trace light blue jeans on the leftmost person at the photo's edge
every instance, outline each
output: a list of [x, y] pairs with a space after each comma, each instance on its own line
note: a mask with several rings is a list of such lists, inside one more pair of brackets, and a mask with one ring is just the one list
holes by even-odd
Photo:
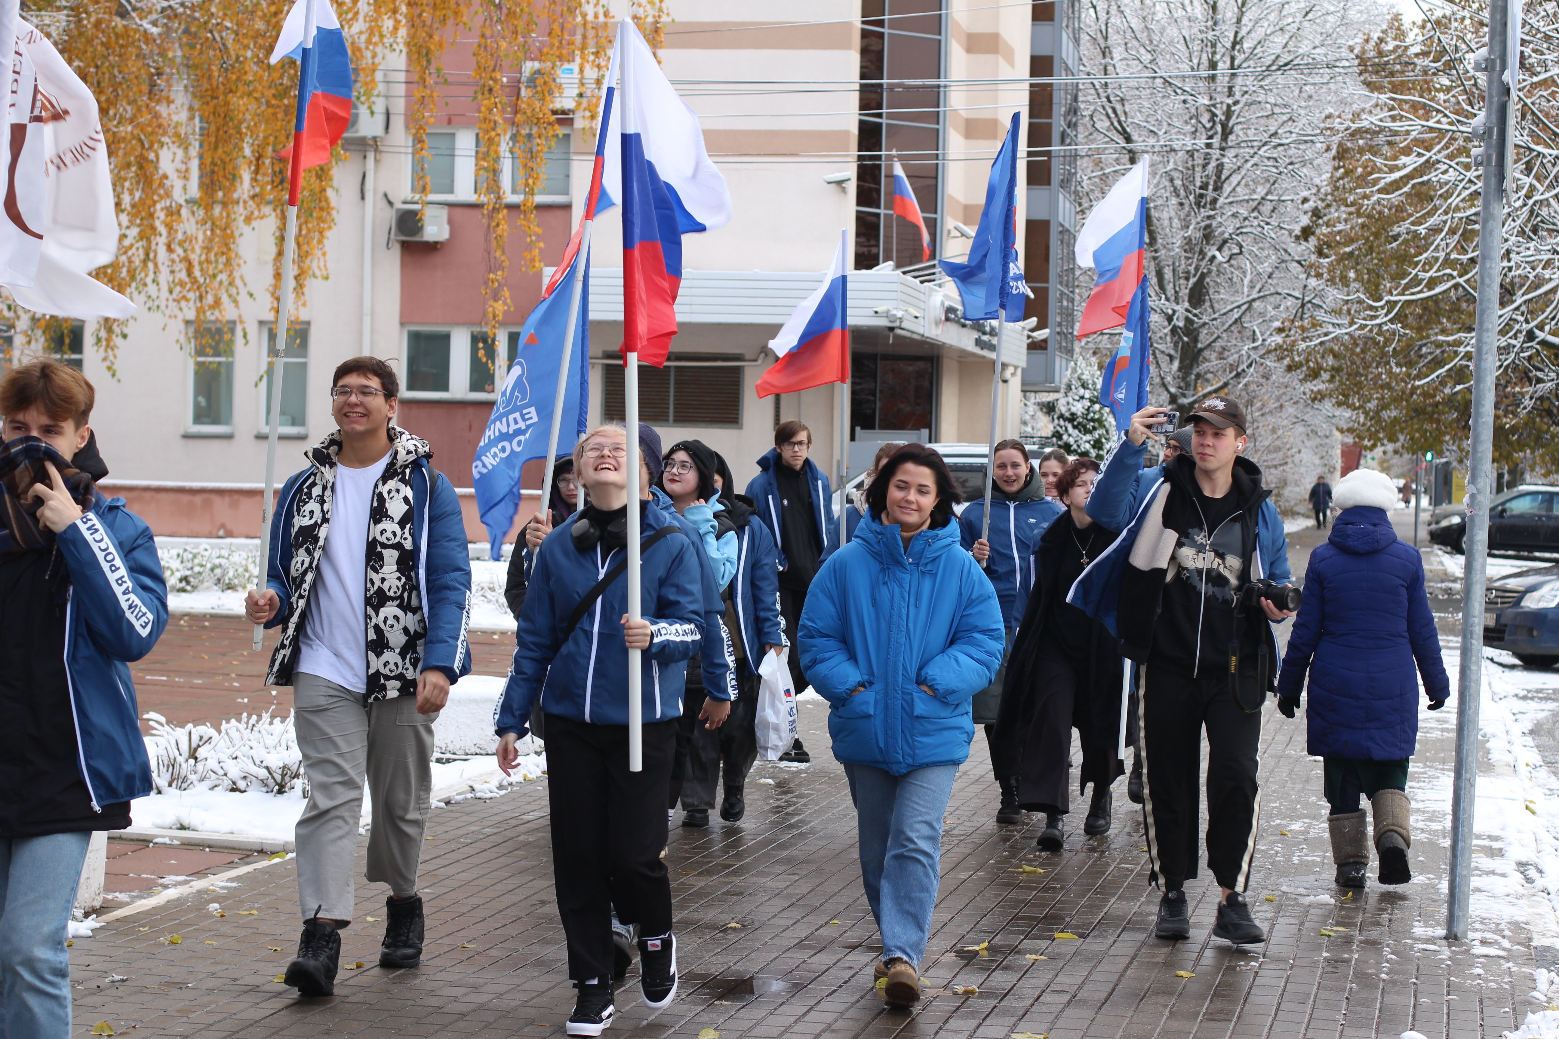
[[65, 925], [90, 833], [0, 840], [0, 1039], [70, 1034]]

